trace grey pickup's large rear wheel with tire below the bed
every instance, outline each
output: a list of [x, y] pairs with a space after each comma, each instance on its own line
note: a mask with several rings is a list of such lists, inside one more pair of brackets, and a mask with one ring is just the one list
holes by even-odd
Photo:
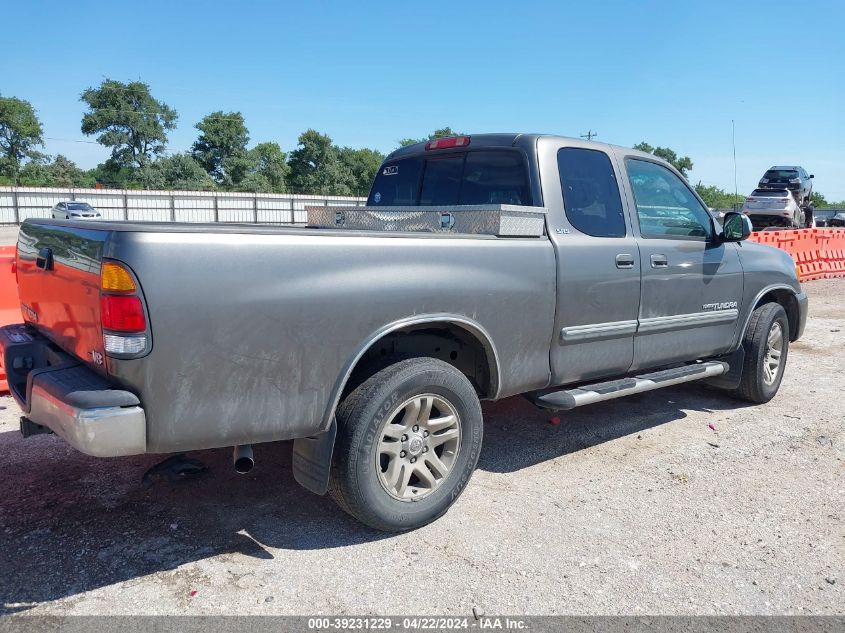
[[373, 374], [346, 396], [336, 417], [329, 494], [385, 532], [413, 530], [442, 516], [481, 453], [475, 389], [433, 358], [402, 360]]

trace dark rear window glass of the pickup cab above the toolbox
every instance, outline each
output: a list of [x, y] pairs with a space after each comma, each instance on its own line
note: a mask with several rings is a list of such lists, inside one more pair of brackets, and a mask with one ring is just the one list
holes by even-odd
[[474, 151], [413, 156], [382, 165], [371, 206], [532, 205], [528, 170], [520, 152]]

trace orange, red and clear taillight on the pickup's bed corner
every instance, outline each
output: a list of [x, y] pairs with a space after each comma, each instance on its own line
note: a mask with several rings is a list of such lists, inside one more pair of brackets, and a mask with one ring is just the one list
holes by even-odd
[[129, 269], [117, 262], [103, 262], [100, 268], [100, 323], [107, 354], [147, 349], [147, 317], [138, 285]]

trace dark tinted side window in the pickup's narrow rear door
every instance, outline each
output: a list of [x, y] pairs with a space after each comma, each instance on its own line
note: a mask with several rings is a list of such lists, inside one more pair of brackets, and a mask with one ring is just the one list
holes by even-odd
[[593, 237], [624, 237], [622, 199], [608, 155], [564, 147], [557, 153], [557, 166], [569, 223]]

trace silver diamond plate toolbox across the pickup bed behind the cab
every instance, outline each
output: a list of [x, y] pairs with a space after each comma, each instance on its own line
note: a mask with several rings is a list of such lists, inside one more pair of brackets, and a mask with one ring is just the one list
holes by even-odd
[[546, 210], [512, 204], [444, 207], [311, 207], [308, 226], [358, 231], [542, 237]]

